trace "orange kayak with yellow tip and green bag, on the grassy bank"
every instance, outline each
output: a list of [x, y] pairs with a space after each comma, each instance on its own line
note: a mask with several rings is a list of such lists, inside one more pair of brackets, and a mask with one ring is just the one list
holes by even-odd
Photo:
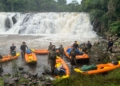
[[81, 74], [88, 74], [88, 75], [105, 73], [105, 72], [112, 71], [116, 68], [120, 68], [120, 61], [117, 65], [114, 65], [112, 63], [107, 63], [107, 64], [98, 64], [96, 66], [97, 66], [97, 69], [94, 69], [94, 70], [82, 71], [80, 68], [75, 68], [74, 71]]

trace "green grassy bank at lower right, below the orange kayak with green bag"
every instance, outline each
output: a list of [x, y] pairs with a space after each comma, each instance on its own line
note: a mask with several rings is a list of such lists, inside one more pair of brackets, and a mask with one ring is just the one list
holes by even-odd
[[120, 86], [120, 69], [105, 75], [72, 74], [70, 78], [53, 81], [53, 86]]

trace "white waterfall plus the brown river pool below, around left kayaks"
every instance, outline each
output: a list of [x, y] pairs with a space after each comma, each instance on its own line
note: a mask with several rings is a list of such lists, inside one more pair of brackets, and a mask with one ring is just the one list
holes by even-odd
[[[49, 42], [57, 47], [70, 46], [73, 42], [97, 41], [87, 13], [0, 13], [0, 53], [9, 54], [12, 43], [20, 52], [20, 45], [26, 42], [29, 48], [47, 49]], [[24, 60], [18, 58], [17, 65], [26, 71], [41, 73], [47, 66], [47, 56], [37, 56], [38, 62], [34, 70]], [[12, 63], [3, 65], [4, 72], [11, 72]]]

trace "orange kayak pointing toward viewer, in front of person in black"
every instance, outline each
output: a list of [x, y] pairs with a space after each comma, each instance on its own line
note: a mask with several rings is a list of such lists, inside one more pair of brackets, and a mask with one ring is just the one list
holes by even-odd
[[35, 53], [30, 53], [30, 54], [25, 53], [25, 61], [27, 63], [36, 63], [37, 57], [36, 57]]

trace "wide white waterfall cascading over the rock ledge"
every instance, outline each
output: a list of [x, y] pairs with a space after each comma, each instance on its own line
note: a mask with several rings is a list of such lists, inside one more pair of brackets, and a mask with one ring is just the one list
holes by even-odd
[[[12, 17], [17, 22], [14, 24]], [[6, 28], [9, 18], [11, 28]], [[0, 13], [0, 34], [40, 35], [43, 38], [30, 42], [54, 42], [69, 45], [75, 40], [94, 42], [98, 40], [87, 13]]]

